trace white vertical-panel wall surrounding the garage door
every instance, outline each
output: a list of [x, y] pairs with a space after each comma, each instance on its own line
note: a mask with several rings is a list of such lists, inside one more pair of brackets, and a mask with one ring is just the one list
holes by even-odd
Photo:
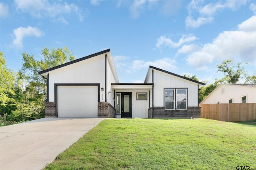
[[[49, 99], [54, 102], [55, 83], [100, 83], [105, 88], [105, 54], [70, 64], [49, 72]], [[102, 100], [103, 94], [103, 100]], [[108, 94], [108, 93], [107, 93]], [[100, 90], [100, 102], [105, 102], [105, 91]]]

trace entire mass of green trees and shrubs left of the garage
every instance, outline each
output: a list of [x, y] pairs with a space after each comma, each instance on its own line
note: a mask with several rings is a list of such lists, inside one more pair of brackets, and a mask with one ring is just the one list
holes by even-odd
[[41, 59], [22, 53], [23, 65], [16, 77], [5, 66], [0, 53], [0, 125], [44, 117], [46, 83], [38, 72], [74, 60], [67, 47], [42, 50]]

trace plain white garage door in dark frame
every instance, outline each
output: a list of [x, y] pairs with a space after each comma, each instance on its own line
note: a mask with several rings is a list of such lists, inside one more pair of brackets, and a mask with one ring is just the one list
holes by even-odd
[[58, 117], [98, 117], [98, 86], [58, 86]]

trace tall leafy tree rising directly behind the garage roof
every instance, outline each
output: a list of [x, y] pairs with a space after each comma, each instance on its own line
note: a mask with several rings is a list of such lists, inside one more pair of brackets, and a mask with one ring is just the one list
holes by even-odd
[[41, 53], [42, 59], [36, 60], [34, 55], [22, 53], [24, 61], [22, 68], [19, 70], [20, 79], [26, 80], [26, 99], [36, 100], [39, 103], [46, 101], [46, 83], [38, 72], [73, 61], [74, 56], [67, 47], [58, 49], [47, 49], [44, 47]]

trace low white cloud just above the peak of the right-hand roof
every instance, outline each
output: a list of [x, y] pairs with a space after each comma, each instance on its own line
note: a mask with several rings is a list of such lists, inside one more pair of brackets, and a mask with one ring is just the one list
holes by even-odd
[[158, 68], [162, 68], [164, 70], [174, 70], [177, 68], [175, 64], [176, 64], [175, 60], [172, 60], [170, 58], [164, 58], [164, 59], [159, 59], [156, 61], [148, 61], [148, 62], [145, 62], [143, 60], [134, 60], [132, 62], [131, 69], [140, 70], [142, 68], [147, 68], [151, 65]]

